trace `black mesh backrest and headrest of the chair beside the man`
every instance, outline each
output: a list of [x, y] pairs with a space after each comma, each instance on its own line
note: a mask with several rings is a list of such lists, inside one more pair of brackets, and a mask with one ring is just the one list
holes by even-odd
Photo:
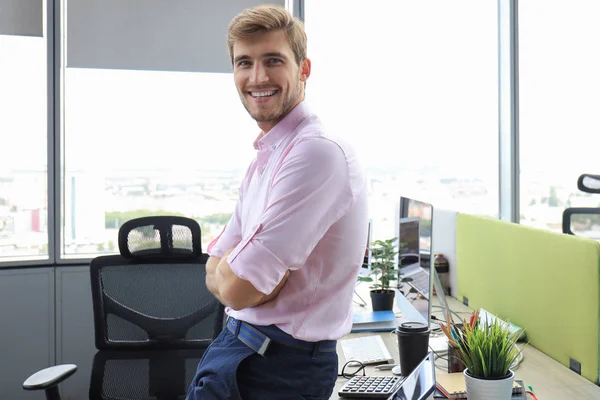
[[206, 348], [222, 330], [223, 306], [206, 288], [198, 223], [127, 221], [119, 251], [90, 264], [96, 348]]

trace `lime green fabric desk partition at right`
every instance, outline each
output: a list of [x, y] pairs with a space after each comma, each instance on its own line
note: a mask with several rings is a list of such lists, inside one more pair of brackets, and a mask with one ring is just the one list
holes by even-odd
[[600, 244], [459, 214], [456, 263], [459, 300], [525, 328], [532, 346], [599, 382]]

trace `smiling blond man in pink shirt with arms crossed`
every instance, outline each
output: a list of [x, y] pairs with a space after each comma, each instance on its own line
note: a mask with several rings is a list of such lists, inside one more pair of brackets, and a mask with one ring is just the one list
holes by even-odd
[[261, 133], [235, 212], [208, 249], [206, 284], [228, 320], [188, 399], [328, 399], [367, 240], [365, 180], [303, 102], [302, 23], [259, 6], [232, 20], [228, 43]]

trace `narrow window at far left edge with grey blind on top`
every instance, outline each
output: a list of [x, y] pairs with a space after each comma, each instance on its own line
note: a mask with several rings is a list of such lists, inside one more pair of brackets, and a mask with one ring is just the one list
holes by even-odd
[[48, 259], [45, 6], [33, 3], [0, 13], [0, 262]]

